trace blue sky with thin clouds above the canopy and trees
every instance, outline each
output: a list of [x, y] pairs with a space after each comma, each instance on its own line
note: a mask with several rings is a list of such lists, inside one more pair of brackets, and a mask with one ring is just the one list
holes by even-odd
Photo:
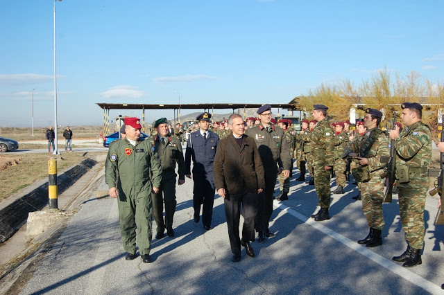
[[[102, 124], [96, 102], [178, 103], [178, 93], [289, 102], [384, 66], [444, 78], [439, 0], [63, 0], [56, 10], [59, 125]], [[53, 1], [0, 1], [0, 27], [0, 127], [31, 127], [34, 88], [35, 127], [53, 124]], [[173, 111], [146, 112], [160, 116]]]

